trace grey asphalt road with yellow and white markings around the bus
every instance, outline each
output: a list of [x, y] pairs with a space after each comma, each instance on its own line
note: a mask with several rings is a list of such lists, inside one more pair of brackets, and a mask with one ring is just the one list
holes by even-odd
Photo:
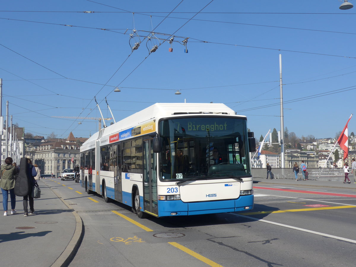
[[255, 185], [244, 213], [139, 219], [79, 184], [46, 180], [81, 216], [69, 266], [355, 266], [356, 192]]

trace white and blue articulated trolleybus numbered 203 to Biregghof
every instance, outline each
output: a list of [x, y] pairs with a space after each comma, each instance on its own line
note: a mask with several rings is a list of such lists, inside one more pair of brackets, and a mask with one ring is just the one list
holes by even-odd
[[80, 147], [82, 187], [139, 218], [253, 208], [255, 138], [224, 104], [157, 103]]

